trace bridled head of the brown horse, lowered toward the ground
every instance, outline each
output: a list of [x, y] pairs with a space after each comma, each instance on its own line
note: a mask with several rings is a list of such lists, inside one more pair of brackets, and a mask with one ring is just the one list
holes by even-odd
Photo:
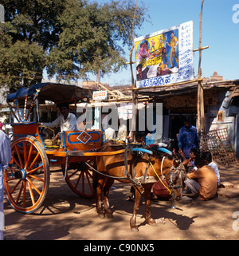
[[182, 199], [182, 188], [186, 179], [186, 170], [182, 163], [174, 160], [174, 165], [170, 168], [169, 188], [173, 192], [172, 198], [176, 200]]

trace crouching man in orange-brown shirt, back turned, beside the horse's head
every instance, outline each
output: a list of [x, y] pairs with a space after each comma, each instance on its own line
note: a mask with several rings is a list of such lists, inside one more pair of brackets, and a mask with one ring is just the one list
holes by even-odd
[[[197, 171], [187, 173], [186, 186], [198, 195], [198, 199], [209, 200], [217, 194], [217, 176], [213, 167], [206, 166], [202, 158], [196, 158]], [[195, 180], [196, 179], [196, 180]]]

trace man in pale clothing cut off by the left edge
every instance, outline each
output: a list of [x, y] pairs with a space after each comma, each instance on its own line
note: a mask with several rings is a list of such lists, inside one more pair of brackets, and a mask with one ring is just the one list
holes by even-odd
[[5, 132], [0, 130], [0, 240], [3, 240], [3, 227], [4, 227], [4, 217], [3, 217], [3, 195], [4, 186], [2, 172], [6, 169], [10, 163], [12, 156], [10, 148], [9, 137], [6, 136]]

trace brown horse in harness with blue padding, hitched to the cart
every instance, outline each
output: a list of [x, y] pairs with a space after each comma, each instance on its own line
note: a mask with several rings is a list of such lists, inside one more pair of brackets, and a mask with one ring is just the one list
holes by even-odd
[[[102, 152], [113, 152], [122, 149], [123, 146], [115, 144], [104, 144], [101, 148]], [[139, 202], [141, 194], [144, 191], [145, 197], [145, 219], [150, 225], [155, 225], [155, 220], [151, 218], [151, 187], [158, 179], [157, 176], [163, 175], [170, 185], [170, 188], [174, 191], [173, 197], [176, 199], [182, 199], [182, 172], [177, 169], [179, 163], [173, 156], [164, 156], [157, 151], [153, 151], [153, 154], [146, 152], [140, 152], [133, 154], [127, 152], [127, 174], [125, 166], [124, 153], [113, 156], [96, 156], [97, 171], [102, 173], [98, 175], [98, 187], [97, 187], [97, 203], [96, 211], [100, 218], [104, 218], [104, 215], [112, 217], [112, 211], [108, 203], [109, 190], [112, 187], [115, 179], [123, 183], [135, 183], [135, 205], [134, 212], [130, 220], [131, 230], [137, 230], [136, 215], [139, 211]], [[182, 165], [180, 165], [181, 167]], [[145, 173], [146, 172], [146, 173]], [[104, 209], [101, 207], [101, 194], [104, 191]]]

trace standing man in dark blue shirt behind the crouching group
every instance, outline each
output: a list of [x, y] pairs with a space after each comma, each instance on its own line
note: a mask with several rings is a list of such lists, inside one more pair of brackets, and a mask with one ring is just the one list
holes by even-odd
[[182, 156], [183, 160], [190, 158], [191, 148], [199, 148], [198, 142], [197, 128], [191, 125], [190, 116], [186, 116], [184, 126], [179, 130], [178, 135], [178, 153]]

